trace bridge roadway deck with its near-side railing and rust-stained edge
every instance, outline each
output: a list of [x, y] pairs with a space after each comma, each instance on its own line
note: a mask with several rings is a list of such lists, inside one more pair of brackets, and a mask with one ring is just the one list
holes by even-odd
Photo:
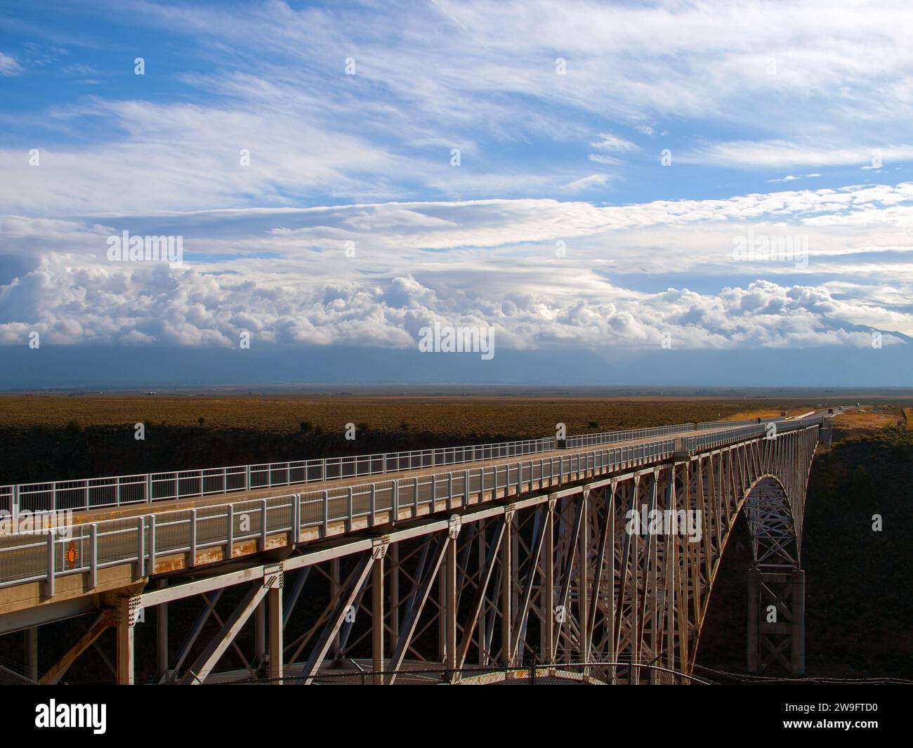
[[762, 433], [756, 424], [694, 429], [385, 473], [373, 482], [333, 479], [80, 511], [63, 538], [54, 533], [0, 536], [0, 616], [50, 600], [121, 589], [157, 574], [644, 469], [673, 458], [679, 438], [701, 437], [691, 444], [708, 450]]

